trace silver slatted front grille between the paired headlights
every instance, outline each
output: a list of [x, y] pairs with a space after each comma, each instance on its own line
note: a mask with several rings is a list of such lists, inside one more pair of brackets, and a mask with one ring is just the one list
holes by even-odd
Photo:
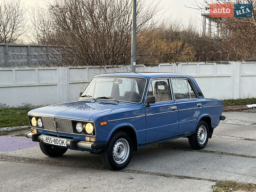
[[[41, 119], [45, 130], [74, 133], [72, 121], [69, 119], [62, 119], [58, 117], [41, 117]], [[54, 126], [54, 122], [56, 122], [57, 128]]]

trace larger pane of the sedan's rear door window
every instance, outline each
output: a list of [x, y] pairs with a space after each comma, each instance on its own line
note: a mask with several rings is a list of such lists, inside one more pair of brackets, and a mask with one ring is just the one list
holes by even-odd
[[175, 100], [190, 99], [187, 79], [172, 79]]

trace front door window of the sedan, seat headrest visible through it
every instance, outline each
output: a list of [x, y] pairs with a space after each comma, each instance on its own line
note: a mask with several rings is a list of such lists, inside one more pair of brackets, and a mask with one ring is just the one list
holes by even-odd
[[156, 102], [172, 100], [172, 94], [168, 79], [152, 80], [148, 88], [148, 96], [155, 96]]

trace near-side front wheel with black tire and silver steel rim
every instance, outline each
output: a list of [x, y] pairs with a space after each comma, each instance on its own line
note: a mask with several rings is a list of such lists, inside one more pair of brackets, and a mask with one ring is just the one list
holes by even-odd
[[101, 152], [101, 160], [103, 164], [111, 170], [124, 169], [132, 158], [132, 140], [130, 136], [119, 131], [111, 137], [108, 147]]

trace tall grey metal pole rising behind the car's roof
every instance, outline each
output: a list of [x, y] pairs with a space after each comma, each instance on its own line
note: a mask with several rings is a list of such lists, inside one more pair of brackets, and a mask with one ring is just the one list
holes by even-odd
[[136, 67], [136, 0], [132, 2], [132, 57], [131, 68], [135, 72]]

